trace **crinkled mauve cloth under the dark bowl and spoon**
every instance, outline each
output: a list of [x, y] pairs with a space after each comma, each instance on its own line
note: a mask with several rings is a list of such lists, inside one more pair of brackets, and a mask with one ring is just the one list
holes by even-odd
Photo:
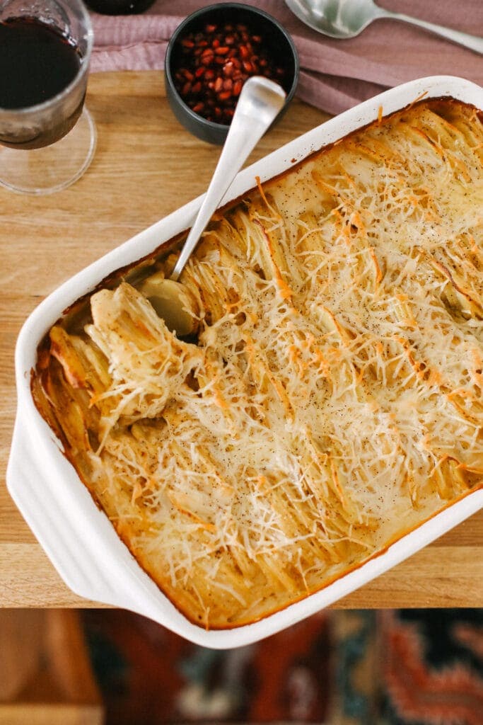
[[[221, 1], [221, 0], [219, 0]], [[307, 28], [283, 0], [252, 0], [290, 32], [301, 75], [297, 95], [335, 114], [385, 88], [426, 75], [458, 75], [483, 86], [483, 56], [405, 22], [377, 20], [340, 41]], [[483, 0], [381, 0], [381, 6], [483, 36]], [[92, 14], [92, 72], [162, 69], [167, 41], [199, 0], [156, 0], [143, 14]]]

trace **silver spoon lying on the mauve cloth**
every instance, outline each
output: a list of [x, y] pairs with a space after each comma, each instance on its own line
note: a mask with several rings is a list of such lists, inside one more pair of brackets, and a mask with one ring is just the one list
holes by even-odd
[[403, 20], [448, 38], [453, 43], [466, 46], [476, 53], [483, 53], [483, 38], [419, 20], [401, 12], [385, 10], [373, 0], [285, 0], [285, 3], [309, 28], [331, 38], [354, 38], [373, 20]]

